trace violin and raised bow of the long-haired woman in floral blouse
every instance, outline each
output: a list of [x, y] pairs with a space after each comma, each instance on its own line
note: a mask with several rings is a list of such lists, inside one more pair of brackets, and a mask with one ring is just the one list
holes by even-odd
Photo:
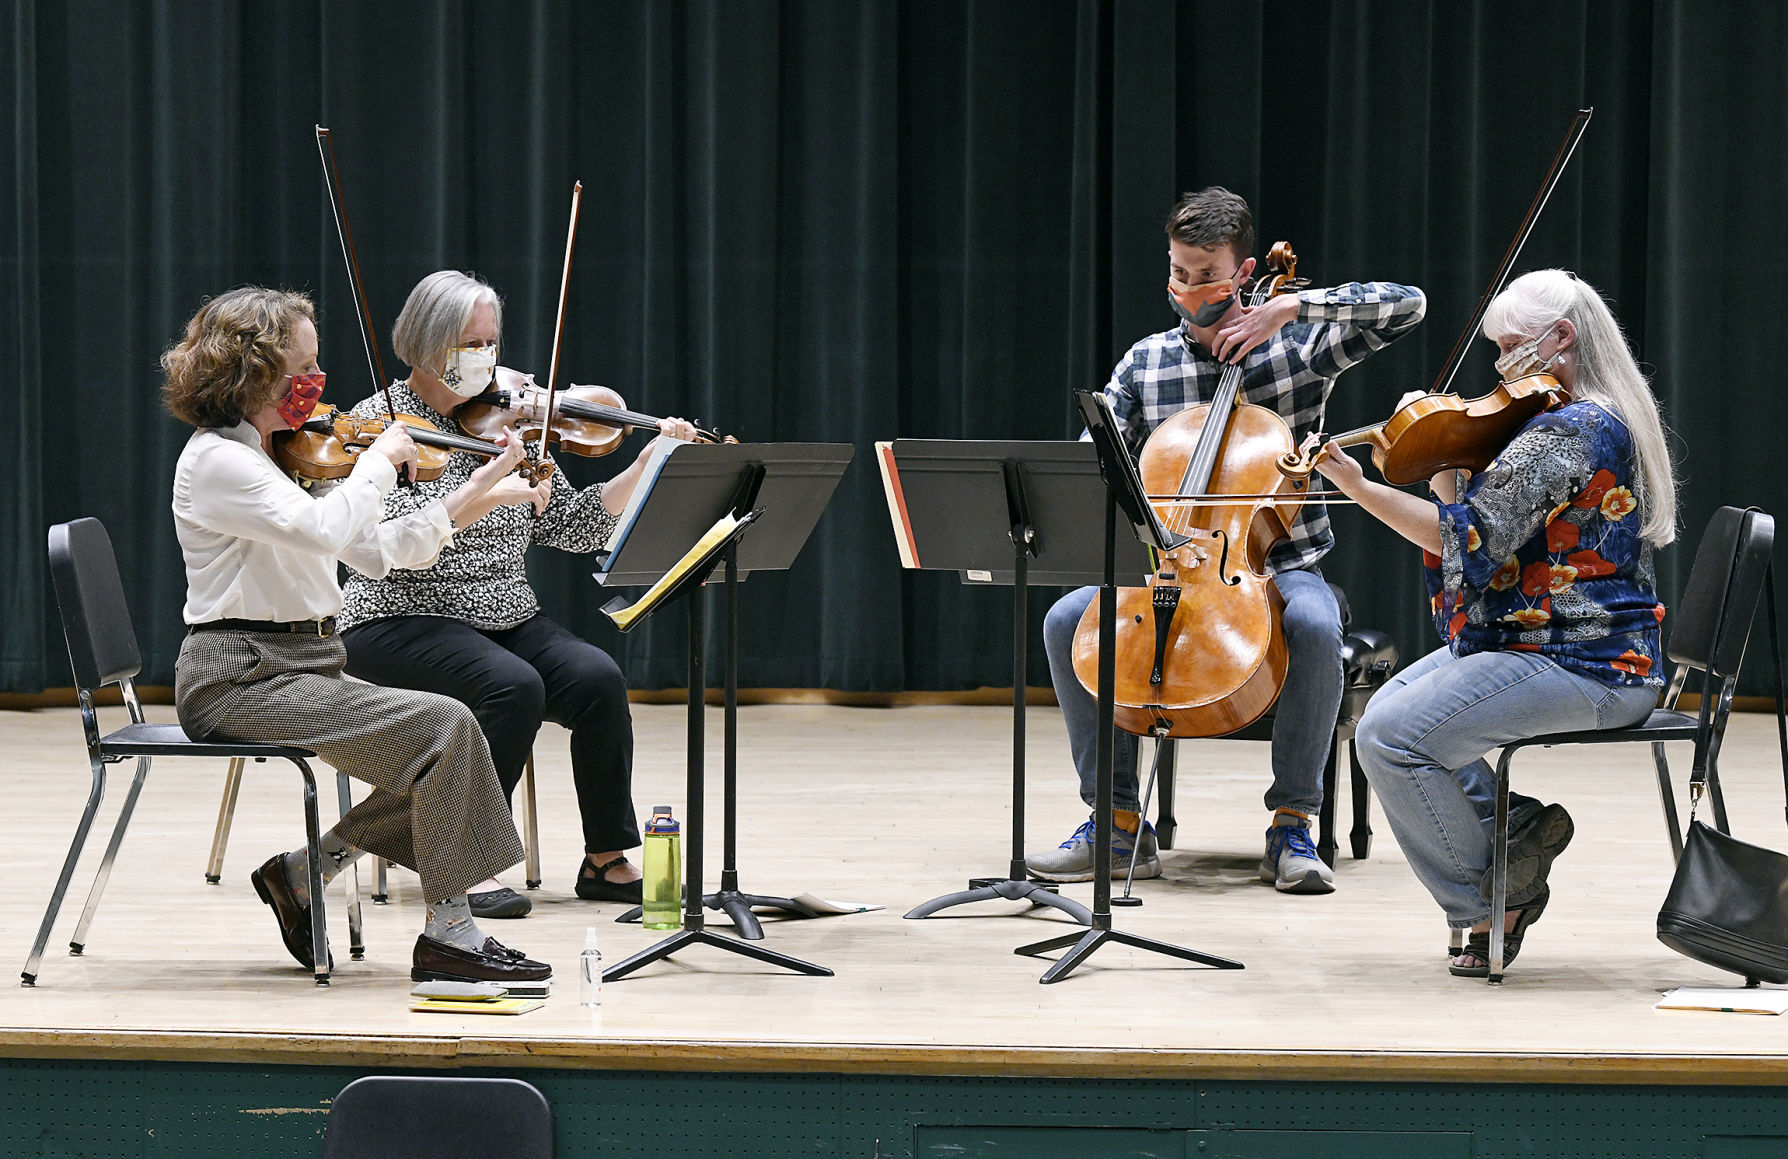
[[[1520, 258], [1527, 236], [1539, 220], [1539, 211], [1547, 207], [1552, 190], [1564, 175], [1564, 166], [1570, 165], [1572, 156], [1577, 152], [1577, 143], [1590, 127], [1590, 116], [1593, 114], [1595, 109], [1577, 109], [1577, 114], [1572, 118], [1570, 129], [1564, 131], [1564, 141], [1559, 145], [1557, 154], [1552, 157], [1552, 166], [1539, 182], [1539, 193], [1534, 195], [1532, 204], [1527, 207], [1527, 216], [1522, 218], [1520, 227], [1514, 231], [1514, 241], [1509, 243], [1502, 263], [1491, 274], [1489, 286], [1477, 300], [1472, 320], [1466, 322], [1464, 333], [1454, 343], [1429, 393], [1411, 399], [1382, 424], [1359, 427], [1320, 442], [1336, 442], [1341, 447], [1370, 445], [1371, 465], [1379, 469], [1384, 481], [1393, 486], [1405, 486], [1443, 470], [1470, 470], [1473, 474], [1484, 470], [1532, 417], [1570, 402], [1570, 392], [1550, 374], [1529, 374], [1513, 383], [1498, 383], [1495, 390], [1477, 399], [1461, 399], [1452, 393], [1452, 379], [1464, 361], [1472, 336], [1484, 320], [1484, 311], [1489, 309], [1491, 299], [1497, 297], [1497, 292], [1514, 268], [1514, 259]], [[1280, 470], [1293, 479], [1307, 478], [1325, 454], [1327, 447], [1316, 447], [1309, 454], [1302, 451], [1289, 454], [1280, 463]]]

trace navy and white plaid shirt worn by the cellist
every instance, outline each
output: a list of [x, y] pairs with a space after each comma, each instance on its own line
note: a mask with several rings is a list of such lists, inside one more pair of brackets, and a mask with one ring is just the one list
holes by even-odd
[[[1404, 336], [1427, 311], [1414, 286], [1348, 283], [1328, 290], [1300, 290], [1298, 318], [1271, 340], [1248, 351], [1241, 370], [1241, 401], [1277, 411], [1293, 442], [1323, 426], [1323, 410], [1336, 376]], [[1223, 363], [1200, 347], [1185, 326], [1137, 342], [1112, 370], [1105, 386], [1112, 413], [1132, 454], [1169, 415], [1209, 402], [1223, 377]], [[1307, 504], [1291, 537], [1268, 556], [1273, 572], [1311, 567], [1334, 546], [1328, 508]]]

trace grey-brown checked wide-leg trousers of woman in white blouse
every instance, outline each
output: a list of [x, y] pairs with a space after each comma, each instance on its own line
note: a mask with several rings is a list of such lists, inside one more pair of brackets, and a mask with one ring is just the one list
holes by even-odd
[[195, 631], [173, 705], [195, 739], [299, 744], [372, 785], [336, 833], [451, 898], [522, 860], [472, 710], [451, 696], [342, 680], [340, 637]]

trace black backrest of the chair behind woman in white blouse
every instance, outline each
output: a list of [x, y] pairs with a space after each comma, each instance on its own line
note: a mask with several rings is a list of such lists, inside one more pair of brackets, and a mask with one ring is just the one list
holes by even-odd
[[136, 676], [143, 656], [105, 524], [77, 519], [50, 528], [50, 578], [75, 685], [91, 690]]

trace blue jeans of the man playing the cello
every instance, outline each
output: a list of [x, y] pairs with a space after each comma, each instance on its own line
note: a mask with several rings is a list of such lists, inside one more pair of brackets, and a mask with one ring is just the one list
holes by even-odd
[[[1286, 597], [1286, 687], [1273, 715], [1273, 785], [1268, 808], [1295, 808], [1314, 816], [1323, 807], [1323, 764], [1341, 712], [1341, 608], [1320, 571], [1286, 571], [1273, 580]], [[1067, 723], [1067, 748], [1080, 774], [1080, 799], [1092, 805], [1098, 776], [1098, 698], [1075, 676], [1075, 628], [1098, 597], [1098, 588], [1076, 588], [1055, 601], [1042, 621], [1050, 653], [1050, 680]], [[1135, 737], [1118, 732], [1112, 758], [1112, 808], [1135, 812]]]

